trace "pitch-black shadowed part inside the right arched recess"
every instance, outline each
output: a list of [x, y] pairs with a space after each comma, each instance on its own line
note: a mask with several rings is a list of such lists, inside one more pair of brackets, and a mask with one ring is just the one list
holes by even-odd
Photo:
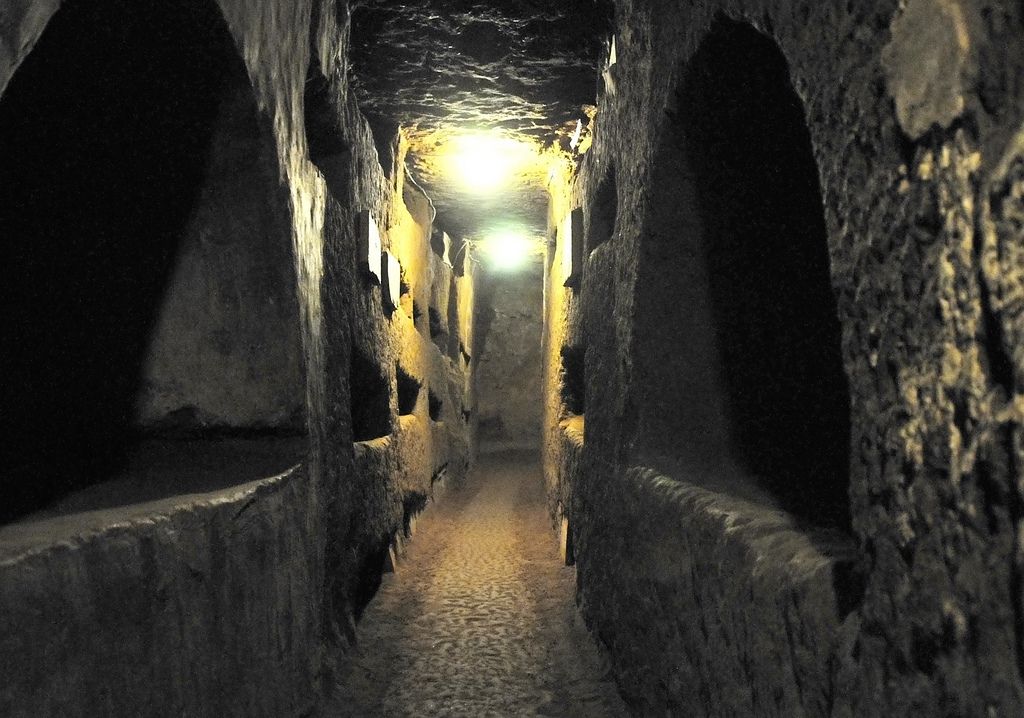
[[728, 430], [798, 515], [849, 522], [849, 389], [818, 171], [775, 43], [717, 20], [678, 97]]

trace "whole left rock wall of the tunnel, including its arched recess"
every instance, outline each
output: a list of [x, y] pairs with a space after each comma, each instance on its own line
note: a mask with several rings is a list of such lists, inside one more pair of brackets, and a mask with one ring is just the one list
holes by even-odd
[[[378, 159], [346, 4], [58, 4], [0, 23], [4, 152], [36, 157], [0, 171], [25, 239], [4, 428], [41, 437], [2, 484], [22, 520], [0, 526], [0, 713], [308, 715], [411, 517], [468, 465], [471, 265], [432, 253], [401, 142]], [[155, 445], [131, 440], [139, 408]], [[354, 440], [365, 415], [376, 441]], [[255, 454], [225, 454], [225, 428]]]

